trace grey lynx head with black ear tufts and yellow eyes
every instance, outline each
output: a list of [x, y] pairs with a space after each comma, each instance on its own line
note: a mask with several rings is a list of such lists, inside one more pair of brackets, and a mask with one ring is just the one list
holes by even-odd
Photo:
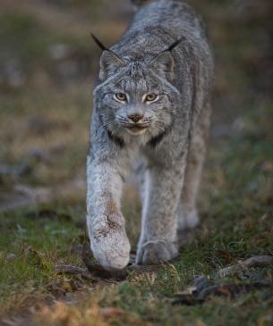
[[138, 59], [121, 57], [94, 38], [103, 52], [95, 88], [96, 109], [103, 126], [119, 137], [124, 134], [150, 138], [164, 133], [175, 116], [178, 90], [173, 86], [175, 62], [172, 49]]

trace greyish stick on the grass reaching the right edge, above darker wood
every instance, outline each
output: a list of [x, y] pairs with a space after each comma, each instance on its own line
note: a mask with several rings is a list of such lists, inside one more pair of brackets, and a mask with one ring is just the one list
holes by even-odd
[[221, 270], [216, 272], [215, 276], [222, 278], [235, 272], [242, 272], [247, 268], [267, 267], [269, 265], [273, 265], [273, 255], [256, 255], [254, 257], [244, 260], [243, 262], [239, 262], [235, 265], [222, 268]]

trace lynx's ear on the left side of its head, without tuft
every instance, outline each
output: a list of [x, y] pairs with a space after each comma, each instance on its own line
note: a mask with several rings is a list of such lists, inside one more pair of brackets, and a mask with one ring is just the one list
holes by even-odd
[[117, 68], [122, 67], [124, 65], [124, 61], [113, 51], [106, 49], [100, 56], [99, 64], [99, 79], [104, 80], [107, 79], [107, 76], [109, 76], [112, 71], [115, 71]]

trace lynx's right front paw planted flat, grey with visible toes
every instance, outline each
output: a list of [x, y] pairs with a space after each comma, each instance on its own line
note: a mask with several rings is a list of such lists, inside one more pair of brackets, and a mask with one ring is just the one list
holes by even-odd
[[149, 241], [139, 247], [136, 263], [162, 263], [178, 255], [178, 250], [173, 242], [163, 240]]

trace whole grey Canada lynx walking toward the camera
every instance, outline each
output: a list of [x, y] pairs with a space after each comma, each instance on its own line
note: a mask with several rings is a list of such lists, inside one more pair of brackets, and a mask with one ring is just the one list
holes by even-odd
[[87, 158], [91, 249], [106, 269], [129, 262], [120, 200], [134, 170], [143, 206], [136, 263], [168, 261], [178, 254], [177, 232], [199, 222], [213, 85], [204, 24], [181, 0], [155, 0], [110, 49], [96, 41], [103, 52]]

